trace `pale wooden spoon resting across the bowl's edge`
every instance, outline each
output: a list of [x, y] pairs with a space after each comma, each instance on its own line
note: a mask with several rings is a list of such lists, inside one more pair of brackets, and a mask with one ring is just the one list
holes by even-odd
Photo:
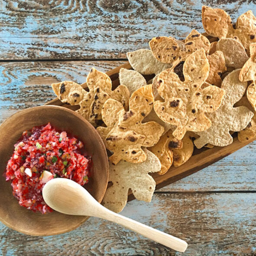
[[43, 187], [43, 199], [49, 207], [60, 213], [86, 215], [110, 220], [178, 252], [184, 252], [187, 249], [187, 243], [184, 240], [155, 230], [150, 226], [131, 220], [103, 207], [85, 188], [75, 181], [55, 178], [47, 182]]

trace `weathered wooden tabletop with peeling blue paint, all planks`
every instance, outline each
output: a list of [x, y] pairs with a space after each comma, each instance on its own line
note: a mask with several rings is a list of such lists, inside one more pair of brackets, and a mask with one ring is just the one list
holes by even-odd
[[[50, 84], [85, 82], [94, 66], [107, 71], [127, 51], [157, 35], [203, 32], [206, 1], [2, 0], [0, 2], [0, 122], [54, 98]], [[254, 0], [208, 1], [233, 20]], [[256, 255], [256, 142], [154, 193], [121, 214], [188, 242], [184, 255]], [[90, 218], [72, 232], [32, 237], [0, 223], [1, 255], [181, 255], [121, 226]]]

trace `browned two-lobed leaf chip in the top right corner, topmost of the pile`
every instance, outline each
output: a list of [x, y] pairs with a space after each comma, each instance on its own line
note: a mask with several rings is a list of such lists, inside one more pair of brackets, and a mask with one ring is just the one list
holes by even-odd
[[247, 53], [249, 45], [256, 43], [256, 18], [251, 10], [238, 17], [234, 29], [230, 16], [224, 10], [203, 6], [202, 22], [208, 35], [236, 39], [242, 43]]

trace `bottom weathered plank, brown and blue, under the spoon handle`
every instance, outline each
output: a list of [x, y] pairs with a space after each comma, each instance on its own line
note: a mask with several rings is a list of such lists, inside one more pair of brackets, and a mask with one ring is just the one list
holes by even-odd
[[122, 214], [181, 237], [188, 242], [187, 251], [175, 253], [121, 226], [90, 218], [77, 230], [49, 237], [26, 236], [0, 224], [0, 254], [252, 256], [256, 253], [256, 197], [252, 193], [157, 193], [151, 203], [129, 202]]

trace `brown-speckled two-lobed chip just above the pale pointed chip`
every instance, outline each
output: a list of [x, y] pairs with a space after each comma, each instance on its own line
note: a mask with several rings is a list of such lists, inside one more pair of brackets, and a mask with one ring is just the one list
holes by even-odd
[[163, 63], [173, 63], [177, 66], [198, 49], [204, 49], [206, 53], [210, 50], [210, 42], [206, 36], [197, 30], [192, 30], [185, 39], [185, 43], [172, 37], [158, 36], [149, 42], [154, 57]]

